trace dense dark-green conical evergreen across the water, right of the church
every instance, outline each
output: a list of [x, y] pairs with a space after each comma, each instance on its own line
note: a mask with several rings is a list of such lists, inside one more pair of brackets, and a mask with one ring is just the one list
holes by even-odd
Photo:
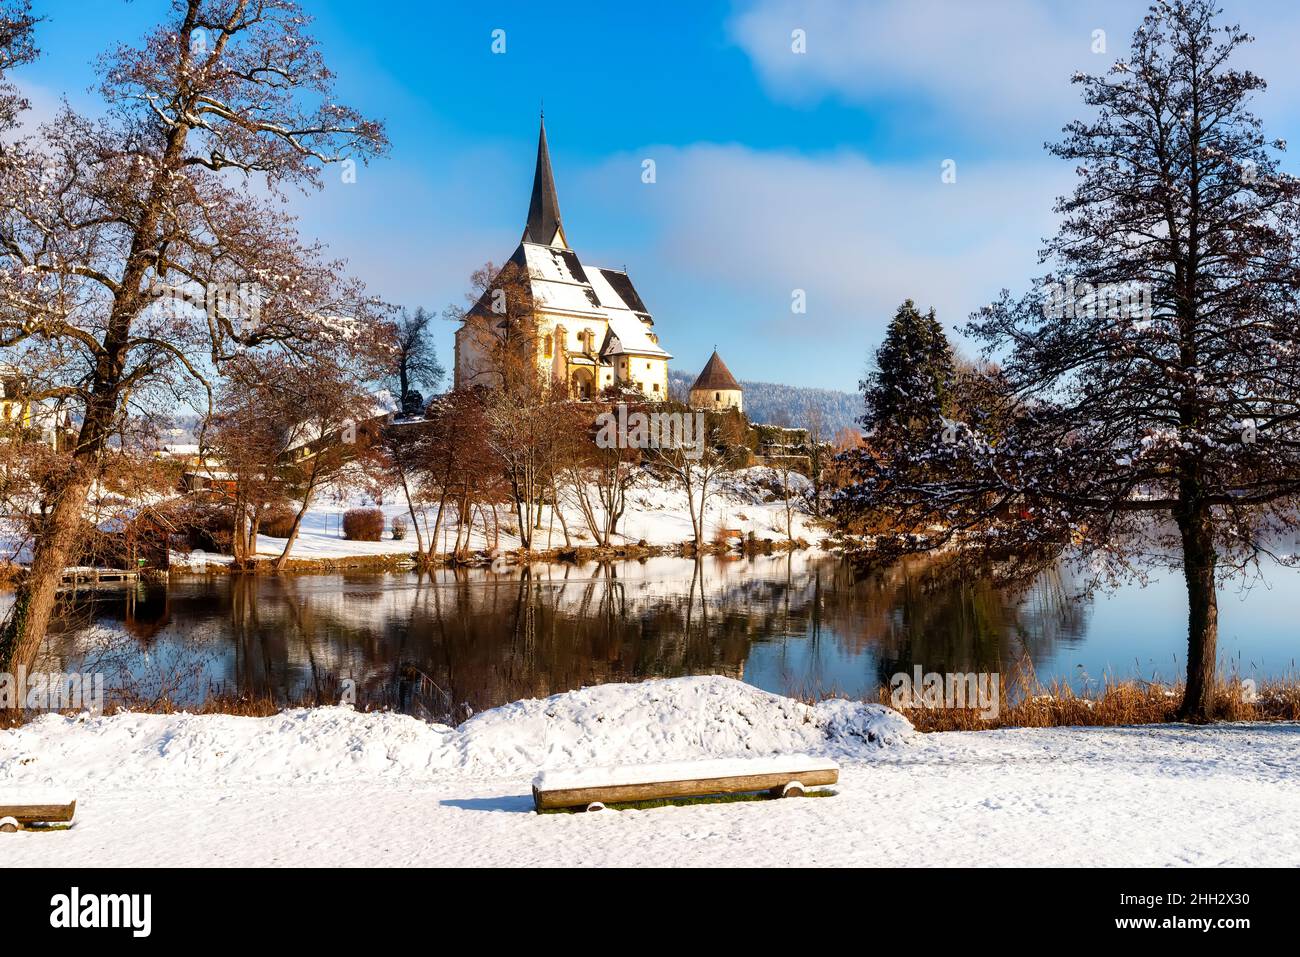
[[948, 411], [954, 380], [952, 346], [935, 311], [922, 315], [907, 299], [889, 321], [875, 368], [859, 382], [861, 421], [880, 441], [930, 429]]

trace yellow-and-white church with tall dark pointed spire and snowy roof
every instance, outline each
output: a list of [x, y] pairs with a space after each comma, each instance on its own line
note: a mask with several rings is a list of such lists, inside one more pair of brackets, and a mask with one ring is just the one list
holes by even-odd
[[[649, 399], [668, 397], [668, 360], [654, 317], [623, 269], [584, 263], [569, 246], [560, 218], [555, 176], [542, 118], [528, 222], [519, 247], [493, 287], [456, 330], [455, 387], [495, 386], [502, 378], [500, 343], [512, 332], [502, 294], [510, 269], [526, 285], [530, 328], [519, 348], [524, 367], [578, 399], [610, 387]], [[511, 280], [512, 282], [516, 280]]]

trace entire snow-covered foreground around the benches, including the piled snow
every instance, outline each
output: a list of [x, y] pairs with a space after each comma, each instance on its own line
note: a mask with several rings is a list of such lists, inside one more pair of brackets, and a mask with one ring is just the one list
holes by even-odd
[[[1296, 865], [1300, 726], [918, 735], [724, 677], [601, 685], [459, 728], [332, 707], [274, 718], [47, 715], [0, 732], [0, 804], [77, 823], [5, 865]], [[826, 800], [532, 813], [540, 770], [805, 753]]]

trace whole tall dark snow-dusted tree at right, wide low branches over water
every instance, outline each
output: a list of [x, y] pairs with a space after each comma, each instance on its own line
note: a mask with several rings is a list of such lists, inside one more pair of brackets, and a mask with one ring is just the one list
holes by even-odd
[[1300, 182], [1248, 111], [1249, 38], [1210, 0], [1158, 3], [1126, 60], [1076, 75], [1089, 120], [1044, 261], [968, 334], [1002, 359], [1000, 434], [932, 430], [858, 456], [848, 514], [906, 529], [881, 555], [961, 541], [1030, 573], [1062, 551], [1106, 581], [1182, 568], [1182, 714], [1212, 716], [1219, 579], [1294, 534], [1300, 502]]

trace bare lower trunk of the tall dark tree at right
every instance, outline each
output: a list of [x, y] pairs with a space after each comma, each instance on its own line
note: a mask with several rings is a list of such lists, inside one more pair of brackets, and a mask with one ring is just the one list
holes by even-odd
[[1218, 597], [1214, 590], [1214, 534], [1209, 510], [1188, 508], [1178, 516], [1187, 580], [1187, 690], [1179, 718], [1208, 722], [1213, 716], [1218, 645]]

